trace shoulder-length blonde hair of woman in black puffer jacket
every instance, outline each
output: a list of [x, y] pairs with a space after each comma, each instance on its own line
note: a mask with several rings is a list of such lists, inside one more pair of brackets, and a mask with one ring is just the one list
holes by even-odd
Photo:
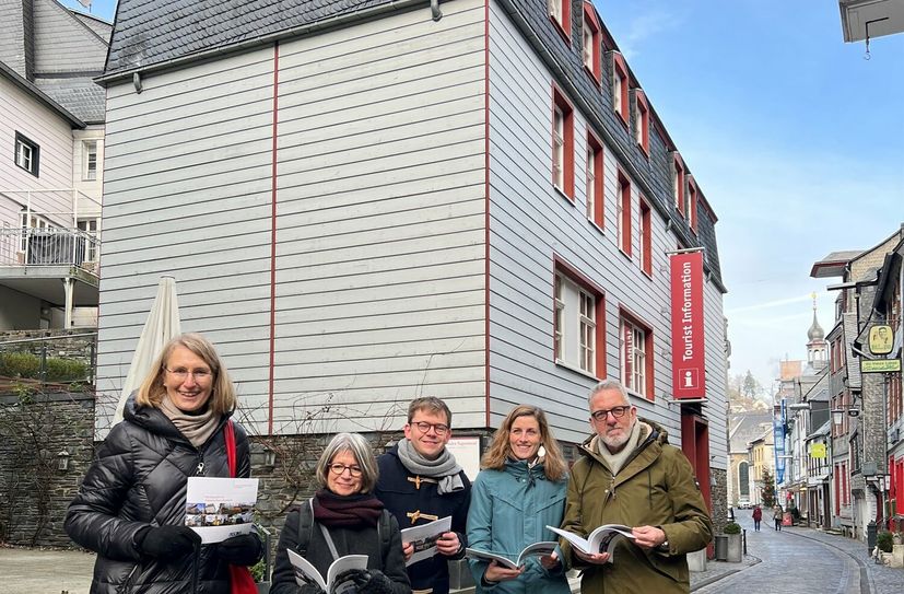
[[160, 357], [154, 361], [151, 368], [151, 373], [141, 382], [136, 396], [136, 404], [141, 406], [150, 406], [160, 408], [163, 397], [166, 395], [166, 388], [163, 385], [163, 374], [166, 372], [166, 363], [169, 357], [178, 347], [184, 347], [201, 359], [210, 366], [213, 374], [210, 400], [208, 407], [219, 415], [230, 412], [235, 409], [235, 386], [230, 378], [223, 361], [216, 353], [213, 345], [201, 336], [200, 334], [180, 334], [176, 338], [163, 347]]

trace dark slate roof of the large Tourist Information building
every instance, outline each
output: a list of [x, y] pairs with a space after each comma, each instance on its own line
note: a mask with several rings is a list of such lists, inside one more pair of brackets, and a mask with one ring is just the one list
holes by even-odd
[[[668, 132], [659, 125], [651, 126], [656, 131], [651, 130], [649, 135], [650, 155], [648, 159], [644, 156], [629, 128], [618, 119], [612, 108], [611, 93], [601, 92], [584, 72], [580, 48], [584, 0], [571, 0], [571, 44], [564, 43], [550, 21], [547, 1], [500, 0], [500, 3], [537, 48], [538, 56], [559, 74], [561, 80], [557, 82], [570, 98], [580, 100], [582, 112], [619, 154], [619, 161], [637, 182], [644, 196], [671, 221], [672, 232], [681, 244], [684, 247], [705, 247], [706, 267], [717, 287], [724, 288], [715, 221], [708, 214], [712, 211], [703, 191], [696, 233], [672, 203], [669, 154], [674, 147]], [[425, 0], [418, 4], [407, 0], [120, 0], [104, 78], [115, 79], [130, 70], [190, 59], [191, 56], [201, 57], [213, 49], [253, 43], [255, 39], [262, 43], [262, 38], [268, 36], [289, 34], [293, 28], [388, 4], [395, 8], [427, 7]], [[604, 23], [602, 26], [604, 30]], [[603, 31], [603, 38], [608, 46], [618, 49], [608, 31]], [[603, 80], [609, 80], [612, 68], [610, 51], [606, 53], [602, 61]], [[633, 89], [638, 84], [633, 73], [631, 79], [633, 94]], [[651, 102], [650, 110], [654, 120], [658, 121]], [[688, 173], [693, 174], [686, 159], [684, 162]], [[700, 185], [702, 180], [696, 182]]]

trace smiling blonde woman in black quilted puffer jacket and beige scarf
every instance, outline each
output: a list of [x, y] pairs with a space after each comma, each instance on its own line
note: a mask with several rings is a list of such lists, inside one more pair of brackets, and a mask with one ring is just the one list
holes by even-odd
[[133, 393], [69, 505], [66, 532], [97, 552], [92, 594], [231, 591], [230, 564], [263, 555], [253, 531], [201, 546], [185, 525], [188, 477], [230, 477], [230, 423], [237, 477], [250, 475], [248, 438], [231, 421], [235, 387], [213, 345], [171, 340]]

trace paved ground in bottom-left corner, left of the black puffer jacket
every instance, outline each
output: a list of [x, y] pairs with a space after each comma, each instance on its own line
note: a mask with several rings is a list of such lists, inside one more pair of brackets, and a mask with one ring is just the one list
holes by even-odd
[[87, 594], [94, 555], [0, 547], [0, 594]]

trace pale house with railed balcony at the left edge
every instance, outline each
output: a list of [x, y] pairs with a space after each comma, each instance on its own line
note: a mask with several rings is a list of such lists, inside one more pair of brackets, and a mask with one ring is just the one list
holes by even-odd
[[0, 0], [0, 330], [95, 327], [113, 27]]

